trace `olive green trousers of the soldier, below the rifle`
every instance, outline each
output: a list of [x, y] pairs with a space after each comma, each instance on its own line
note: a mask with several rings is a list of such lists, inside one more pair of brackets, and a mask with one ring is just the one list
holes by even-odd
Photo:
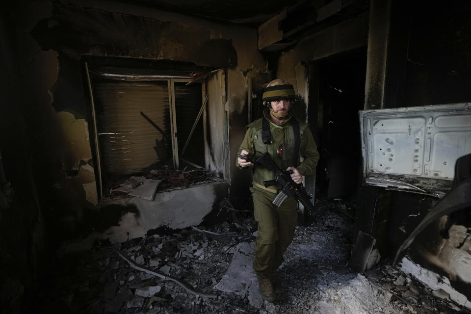
[[254, 200], [254, 216], [258, 223], [258, 235], [255, 242], [254, 270], [261, 276], [280, 267], [283, 253], [293, 240], [297, 223], [297, 200], [288, 197], [280, 207], [273, 204], [275, 193], [261, 188], [251, 187]]

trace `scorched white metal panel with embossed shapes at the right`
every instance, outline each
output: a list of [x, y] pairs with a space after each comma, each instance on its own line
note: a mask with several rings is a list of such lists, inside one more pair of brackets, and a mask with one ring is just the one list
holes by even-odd
[[362, 110], [359, 115], [366, 183], [444, 190], [451, 186], [456, 159], [471, 153], [468, 103]]

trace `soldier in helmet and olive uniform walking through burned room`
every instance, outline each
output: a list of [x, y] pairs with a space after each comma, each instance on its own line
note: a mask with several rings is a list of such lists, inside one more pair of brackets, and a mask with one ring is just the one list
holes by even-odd
[[[292, 170], [295, 183], [303, 181], [303, 175], [313, 174], [319, 159], [309, 125], [297, 120], [290, 112], [295, 93], [293, 85], [284, 79], [275, 79], [263, 90], [262, 101], [267, 106], [263, 118], [247, 127], [238, 154], [254, 160], [268, 152], [281, 169]], [[300, 162], [300, 156], [304, 159]], [[250, 161], [237, 158], [237, 166], [254, 166]], [[297, 200], [289, 197], [280, 207], [272, 205], [280, 186], [263, 186], [263, 181], [274, 180], [274, 173], [266, 168], [253, 167], [254, 216], [258, 223], [255, 243], [254, 270], [259, 282], [260, 294], [273, 302], [275, 292], [281, 291], [278, 267], [283, 253], [294, 236], [297, 222]]]

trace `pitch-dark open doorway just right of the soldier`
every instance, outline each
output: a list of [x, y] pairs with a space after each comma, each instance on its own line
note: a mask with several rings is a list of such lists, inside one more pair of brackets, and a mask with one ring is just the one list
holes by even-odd
[[323, 195], [352, 199], [356, 197], [361, 165], [358, 110], [363, 109], [365, 100], [366, 48], [317, 63], [317, 144], [321, 158], [316, 183]]

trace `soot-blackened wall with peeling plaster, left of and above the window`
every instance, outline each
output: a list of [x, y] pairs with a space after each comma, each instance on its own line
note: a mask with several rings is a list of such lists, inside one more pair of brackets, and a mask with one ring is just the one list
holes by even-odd
[[221, 104], [230, 130], [236, 122], [231, 142], [245, 117], [246, 91], [239, 88], [246, 88], [249, 73], [264, 73], [266, 63], [256, 29], [244, 26], [111, 2], [26, 0], [2, 3], [0, 11], [0, 152], [12, 187], [1, 182], [2, 200], [9, 201], [1, 203], [0, 287], [2, 298], [18, 308], [20, 296], [33, 293], [47, 274], [60, 242], [93, 227], [86, 222], [98, 196], [83, 56], [231, 69], [231, 94]]

